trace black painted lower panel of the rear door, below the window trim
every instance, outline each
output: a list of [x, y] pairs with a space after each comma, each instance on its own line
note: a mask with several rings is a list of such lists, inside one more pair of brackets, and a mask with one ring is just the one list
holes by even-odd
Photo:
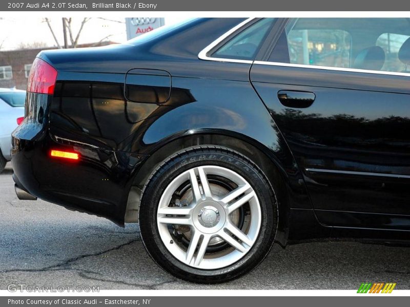
[[[394, 87], [381, 85], [391, 77]], [[410, 230], [410, 95], [401, 93], [407, 78], [253, 65], [251, 80], [303, 171], [323, 224]], [[309, 107], [292, 108], [277, 98], [280, 91], [316, 98]], [[382, 222], [386, 218], [391, 221]]]

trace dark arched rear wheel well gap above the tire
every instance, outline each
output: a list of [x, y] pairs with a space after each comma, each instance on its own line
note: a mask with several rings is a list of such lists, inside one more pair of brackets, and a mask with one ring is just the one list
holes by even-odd
[[[276, 162], [268, 157], [261, 149], [246, 142], [242, 139], [217, 134], [201, 134], [182, 137], [163, 145], [157, 149], [138, 170], [133, 181], [130, 197], [127, 205], [126, 223], [136, 222], [132, 216], [135, 216], [135, 210], [138, 211], [140, 190], [144, 187], [153, 170], [163, 160], [172, 156], [175, 152], [187, 147], [199, 145], [218, 145], [236, 150], [245, 157], [251, 159], [267, 176], [269, 182], [274, 188], [278, 201], [278, 233], [276, 240], [282, 246], [285, 245], [289, 229], [289, 200], [286, 196], [286, 187], [283, 174], [279, 171]], [[137, 200], [137, 202], [136, 202]], [[133, 210], [131, 210], [133, 209]], [[131, 216], [132, 212], [132, 216]]]

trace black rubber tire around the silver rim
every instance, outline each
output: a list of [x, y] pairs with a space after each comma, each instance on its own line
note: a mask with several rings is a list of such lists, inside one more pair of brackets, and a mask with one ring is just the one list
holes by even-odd
[[[157, 227], [158, 204], [166, 187], [179, 174], [201, 165], [220, 166], [238, 173], [251, 184], [261, 208], [261, 226], [252, 248], [234, 264], [215, 270], [198, 269], [179, 261], [163, 244]], [[226, 282], [253, 270], [269, 253], [277, 229], [277, 203], [271, 184], [247, 157], [225, 147], [191, 147], [177, 152], [152, 173], [142, 190], [139, 224], [148, 253], [162, 269], [191, 282]]]

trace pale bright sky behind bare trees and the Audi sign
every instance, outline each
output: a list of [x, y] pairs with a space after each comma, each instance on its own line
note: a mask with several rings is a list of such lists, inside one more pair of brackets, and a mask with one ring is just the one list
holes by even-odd
[[[127, 16], [132, 17], [132, 16]], [[54, 33], [60, 43], [64, 45], [63, 40], [63, 23], [61, 17], [48, 17]], [[124, 42], [127, 40], [125, 18], [120, 16], [104, 16], [92, 17], [81, 31], [78, 43], [97, 42], [101, 39], [111, 40], [115, 42]], [[116, 21], [121, 21], [118, 23]], [[175, 24], [181, 21], [180, 17], [166, 17], [165, 24]], [[73, 32], [75, 35], [80, 27], [83, 17], [73, 17]], [[17, 16], [1, 16], [0, 17], [0, 50], [18, 49], [20, 43], [32, 44], [34, 42], [44, 42], [46, 46], [57, 46], [56, 42], [49, 30], [47, 23], [44, 22], [44, 17], [17, 17]], [[7, 30], [4, 30], [7, 29]], [[106, 38], [109, 36], [108, 38]]]

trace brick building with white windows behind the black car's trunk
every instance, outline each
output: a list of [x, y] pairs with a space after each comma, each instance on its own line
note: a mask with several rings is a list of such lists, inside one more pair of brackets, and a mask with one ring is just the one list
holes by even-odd
[[[78, 45], [76, 48], [107, 46], [113, 43], [115, 42], [87, 43]], [[15, 86], [16, 89], [26, 90], [27, 79], [35, 56], [40, 51], [49, 49], [55, 49], [55, 47], [0, 51], [0, 87]]]

